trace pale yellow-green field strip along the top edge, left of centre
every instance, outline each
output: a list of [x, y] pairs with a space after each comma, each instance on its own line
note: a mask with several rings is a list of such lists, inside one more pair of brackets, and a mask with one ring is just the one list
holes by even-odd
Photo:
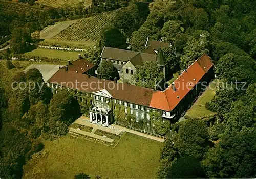
[[[38, 0], [36, 3], [46, 5], [46, 6], [51, 6], [54, 8], [59, 8], [64, 5], [67, 6], [75, 6], [80, 2], [84, 2], [84, 0]], [[92, 4], [92, 0], [86, 0], [84, 2], [84, 6], [90, 6]]]

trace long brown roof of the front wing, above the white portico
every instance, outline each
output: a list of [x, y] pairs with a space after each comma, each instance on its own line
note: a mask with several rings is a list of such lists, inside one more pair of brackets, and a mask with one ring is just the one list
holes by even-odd
[[[69, 83], [68, 83], [69, 82]], [[98, 79], [94, 76], [76, 73], [73, 71], [58, 70], [49, 80], [48, 83], [58, 84], [68, 88], [94, 93], [105, 89], [113, 98], [127, 101], [143, 106], [150, 106], [153, 90], [125, 83], [115, 83], [110, 80]], [[73, 83], [73, 85], [72, 85]], [[75, 86], [74, 84], [77, 84]]]

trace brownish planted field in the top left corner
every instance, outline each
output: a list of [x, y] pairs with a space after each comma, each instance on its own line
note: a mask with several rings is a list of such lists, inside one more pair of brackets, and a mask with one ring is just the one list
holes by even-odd
[[26, 13], [26, 12], [32, 11], [32, 10], [44, 11], [46, 9], [41, 9], [36, 5], [29, 6], [29, 5], [21, 4], [21, 3], [17, 3], [17, 2], [0, 0], [0, 12], [3, 12], [3, 13], [12, 12], [12, 13], [22, 14], [22, 13]]

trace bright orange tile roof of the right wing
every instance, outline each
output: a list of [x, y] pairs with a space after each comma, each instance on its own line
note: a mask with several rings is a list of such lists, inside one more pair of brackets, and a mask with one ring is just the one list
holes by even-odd
[[202, 55], [174, 81], [176, 90], [170, 85], [164, 91], [154, 92], [150, 107], [172, 111], [212, 66], [209, 57], [206, 54]]

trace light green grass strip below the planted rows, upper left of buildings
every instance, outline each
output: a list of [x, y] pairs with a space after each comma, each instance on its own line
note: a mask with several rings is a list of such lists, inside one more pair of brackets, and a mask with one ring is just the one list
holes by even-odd
[[44, 49], [44, 48], [37, 48], [31, 52], [25, 53], [25, 56], [32, 57], [32, 56], [40, 56], [40, 57], [48, 57], [48, 58], [58, 58], [63, 60], [76, 60], [78, 58], [78, 54], [81, 52], [67, 52], [67, 51], [60, 51], [54, 49]]

